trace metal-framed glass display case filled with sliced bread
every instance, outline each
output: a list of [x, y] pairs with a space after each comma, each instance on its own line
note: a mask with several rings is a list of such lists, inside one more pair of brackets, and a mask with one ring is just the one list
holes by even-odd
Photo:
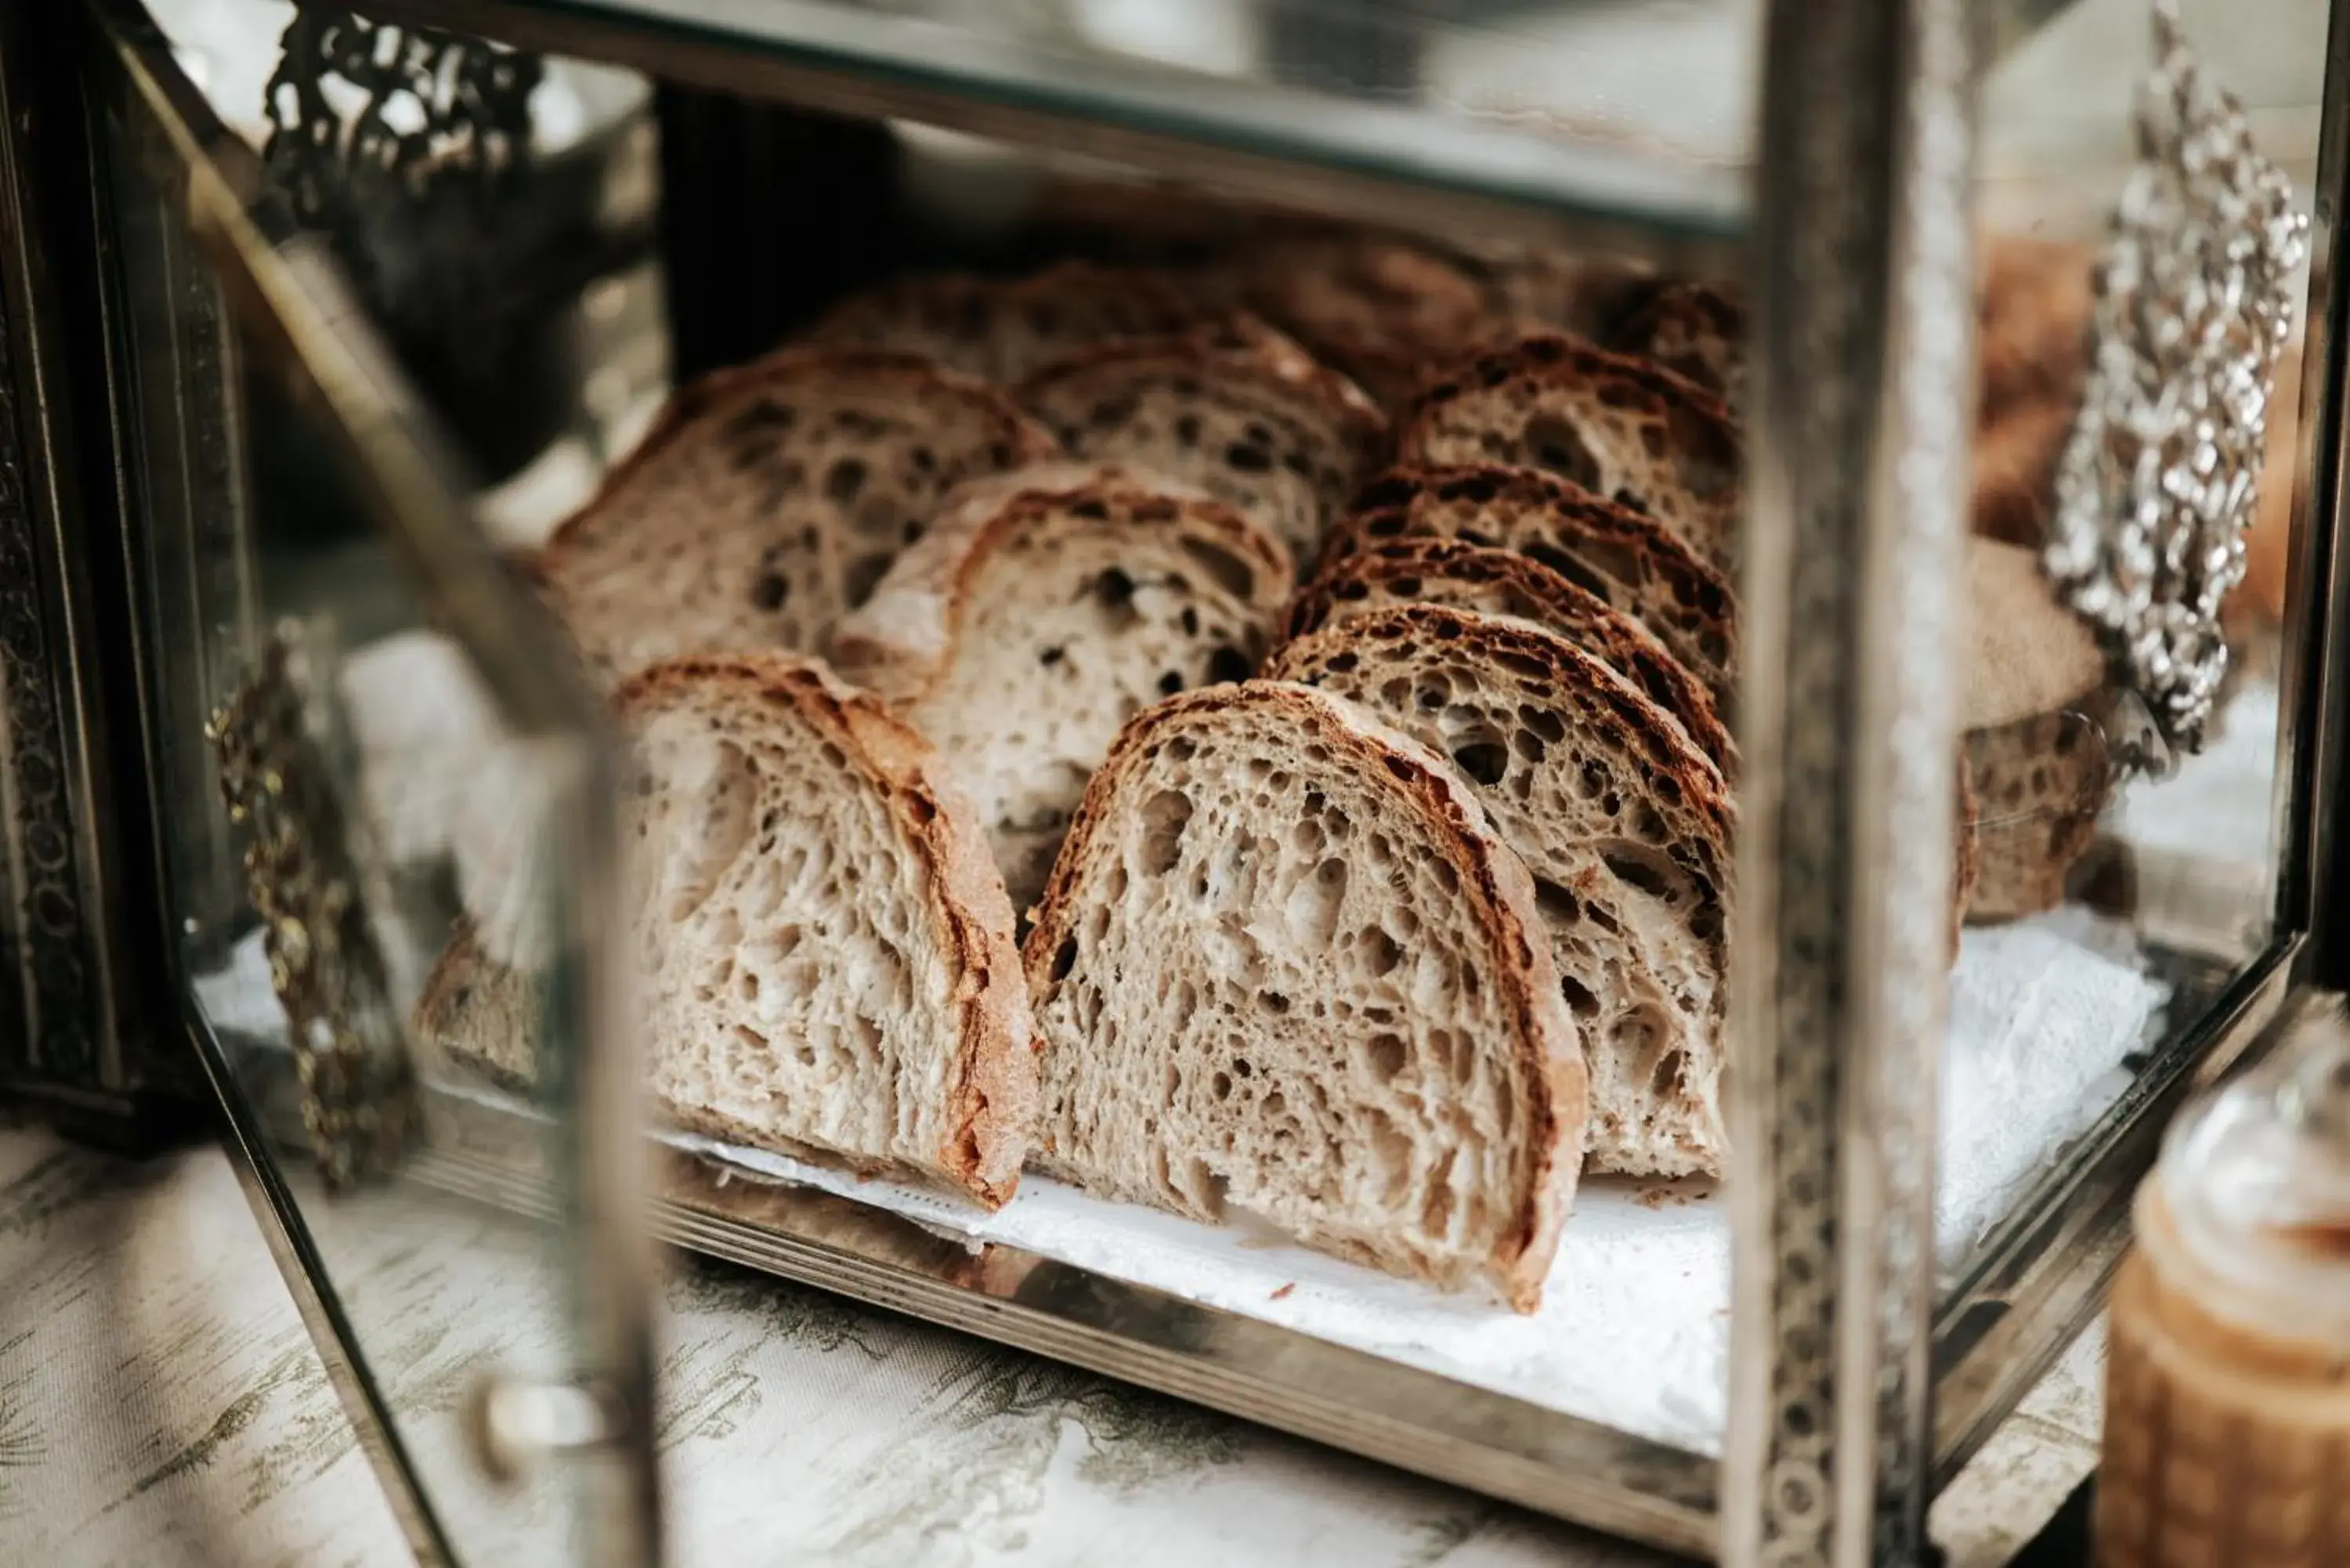
[[2343, 985], [2258, 9], [9, 12], [0, 1004], [70, 816], [451, 1561], [658, 1559], [658, 1244], [1920, 1561]]

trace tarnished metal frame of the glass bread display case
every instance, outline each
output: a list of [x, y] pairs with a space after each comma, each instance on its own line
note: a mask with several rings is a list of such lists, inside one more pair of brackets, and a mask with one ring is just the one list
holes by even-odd
[[[85, 858], [153, 863], [172, 830], [139, 799], [146, 717], [139, 679], [89, 654], [129, 628], [113, 602], [139, 583], [136, 538], [153, 503], [132, 484], [122, 428], [134, 388], [61, 371], [108, 353], [108, 200], [89, 176], [87, 103], [134, 106], [169, 153], [160, 188], [202, 247], [202, 266], [266, 343], [273, 371], [308, 386], [350, 433], [350, 461], [378, 480], [376, 527], [409, 548], [446, 625], [479, 665], [508, 672], [512, 715], [592, 729], [583, 696], [529, 646], [526, 609], [486, 569], [458, 522], [430, 416], [381, 362], [338, 273], [270, 190], [261, 162], [223, 134], [136, 0], [0, 12], [0, 160], [7, 381], [0, 383], [0, 559], [33, 550], [45, 571], [54, 712], [24, 686], [28, 649], [5, 686], [9, 750], [26, 736], [75, 752], [113, 748], [132, 780], [108, 802], [106, 769], [68, 771], [66, 802]], [[2350, 158], [2350, 5], [2326, 40], [2312, 320], [2301, 409], [2298, 501], [2282, 668], [2289, 750], [2277, 778], [2275, 936], [2225, 978], [2197, 1027], [2169, 1041], [2084, 1138], [2068, 1175], [2044, 1182], [1974, 1253], [1958, 1291], [1936, 1291], [1934, 1081], [1948, 966], [1955, 743], [1948, 604], [1965, 536], [1972, 423], [1972, 223], [1976, 87], [1983, 61], [2061, 7], [1967, 0], [1774, 0], [1762, 42], [1762, 132], [1751, 183], [1694, 181], [1638, 200], [1572, 190], [1661, 190], [1640, 169], [1560, 150], [1523, 179], [1466, 181], [1478, 160], [1523, 155], [1464, 136], [1415, 167], [1368, 141], [1290, 127], [1264, 139], [1201, 132], [1210, 101], [1088, 115], [987, 61], [956, 73], [891, 52], [881, 12], [778, 2], [733, 38], [682, 21], [691, 5], [378, 0], [385, 21], [449, 28], [526, 52], [625, 61], [674, 92], [773, 99], [841, 115], [895, 115], [1013, 143], [1060, 148], [1198, 179], [1335, 214], [1426, 226], [1478, 223], [1537, 240], [1631, 247], [1671, 261], [1734, 259], [1753, 284], [1748, 397], [1746, 684], [1739, 703], [1741, 863], [1734, 1027], [1737, 1168], [1730, 1429], [1723, 1460], [1636, 1439], [1504, 1394], [1398, 1366], [1234, 1312], [1180, 1300], [1013, 1248], [971, 1253], [895, 1215], [818, 1192], [724, 1187], [682, 1157], [660, 1166], [651, 1229], [858, 1300], [1020, 1345], [1408, 1469], [1668, 1549], [1744, 1566], [1859, 1568], [1925, 1552], [1932, 1495], [2094, 1316], [2127, 1244], [2127, 1204], [2167, 1114], [2197, 1084], [2256, 1051], [2289, 1009], [2350, 980], [2345, 842], [2338, 799], [2350, 736], [2350, 562], [2338, 550], [2343, 353], [2350, 310], [2336, 268]], [[752, 38], [757, 33], [757, 38]], [[70, 71], [40, 66], [70, 59]], [[47, 80], [45, 80], [47, 78]], [[80, 101], [78, 101], [80, 94]], [[45, 115], [21, 118], [38, 103]], [[1370, 127], [1363, 120], [1356, 129]], [[1300, 148], [1307, 148], [1304, 153]], [[1445, 160], [1455, 160], [1448, 165]], [[1483, 190], [1466, 186], [1483, 183]], [[59, 216], [82, 195], [82, 212]], [[99, 193], [89, 200], [89, 193]], [[75, 350], [66, 346], [75, 343]], [[120, 371], [118, 371], [120, 374]], [[68, 386], [70, 383], [70, 386]], [[82, 454], [63, 463], [61, 451]], [[47, 456], [42, 456], [47, 454]], [[78, 475], [87, 527], [61, 522], [61, 475]], [[101, 527], [101, 520], [106, 524]], [[73, 545], [80, 545], [75, 550]], [[80, 574], [80, 576], [75, 576]], [[118, 583], [120, 578], [120, 583]], [[0, 581], [0, 632], [21, 625]], [[127, 635], [127, 632], [125, 632]], [[56, 701], [63, 698], [63, 701]], [[47, 736], [47, 741], [42, 741]], [[42, 799], [0, 795], [19, 846], [45, 825]], [[141, 903], [167, 907], [164, 872], [122, 886], [78, 884], [87, 952], [169, 971]], [[19, 903], [0, 905], [0, 922]], [[125, 957], [129, 954], [129, 957]], [[143, 971], [141, 971], [143, 973]], [[0, 976], [0, 1001], [19, 1006]], [[120, 980], [118, 980], [120, 985]], [[197, 1058], [219, 1041], [190, 1013]], [[120, 1037], [92, 1018], [101, 1053]], [[428, 1152], [418, 1178], [498, 1201], [583, 1206], [597, 1241], [578, 1258], [592, 1302], [590, 1361], [618, 1389], [604, 1458], [611, 1497], [595, 1535], [606, 1561], [651, 1561], [658, 1493], [649, 1420], [644, 1295], [649, 1260], [627, 1237], [637, 1211], [634, 1065], [609, 1018], [583, 1060], [583, 1121], [569, 1171], [515, 1178], [484, 1154]], [[223, 1086], [235, 1110], [242, 1100]], [[301, 1213], [273, 1178], [266, 1128], [237, 1117], [240, 1152], [275, 1220], [289, 1279], [315, 1272]], [[482, 1133], [496, 1143], [496, 1128]], [[550, 1197], [555, 1194], [555, 1197]], [[317, 1300], [308, 1293], [306, 1300]], [[348, 1326], [320, 1314], [322, 1345]], [[355, 1387], [364, 1380], [352, 1380]], [[362, 1425], [385, 1427], [364, 1389]], [[383, 1443], [388, 1486], [432, 1540], [432, 1509]]]

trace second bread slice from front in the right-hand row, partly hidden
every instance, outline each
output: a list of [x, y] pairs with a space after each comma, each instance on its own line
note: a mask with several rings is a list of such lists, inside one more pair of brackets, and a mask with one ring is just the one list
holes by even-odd
[[1593, 1171], [1720, 1175], [1732, 804], [1631, 682], [1523, 621], [1415, 604], [1276, 649], [1443, 752], [1535, 875], [1584, 1032]]

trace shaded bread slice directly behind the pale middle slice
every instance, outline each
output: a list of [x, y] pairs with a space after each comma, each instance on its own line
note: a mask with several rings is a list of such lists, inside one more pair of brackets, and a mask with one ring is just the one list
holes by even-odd
[[1196, 484], [1297, 559], [1386, 444], [1358, 386], [1248, 317], [1072, 355], [1018, 395], [1072, 454]]

